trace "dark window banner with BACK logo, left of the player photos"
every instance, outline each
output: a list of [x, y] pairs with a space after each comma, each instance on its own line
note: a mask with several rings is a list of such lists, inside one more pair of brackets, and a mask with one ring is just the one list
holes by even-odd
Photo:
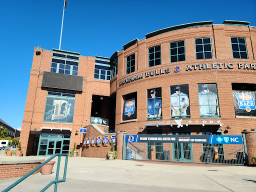
[[130, 119], [136, 119], [136, 118], [137, 118], [136, 99], [135, 98], [130, 98], [130, 99], [124, 100], [122, 119], [123, 120], [130, 120]]

